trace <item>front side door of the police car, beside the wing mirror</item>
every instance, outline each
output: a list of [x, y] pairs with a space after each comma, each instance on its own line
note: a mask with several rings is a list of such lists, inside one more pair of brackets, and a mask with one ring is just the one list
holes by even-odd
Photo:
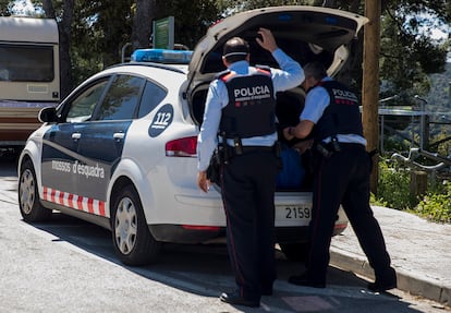
[[64, 206], [74, 207], [72, 200], [78, 194], [78, 174], [75, 165], [81, 139], [80, 130], [89, 123], [94, 109], [108, 84], [105, 77], [82, 87], [59, 108], [60, 122], [44, 134], [41, 179], [44, 198]]

